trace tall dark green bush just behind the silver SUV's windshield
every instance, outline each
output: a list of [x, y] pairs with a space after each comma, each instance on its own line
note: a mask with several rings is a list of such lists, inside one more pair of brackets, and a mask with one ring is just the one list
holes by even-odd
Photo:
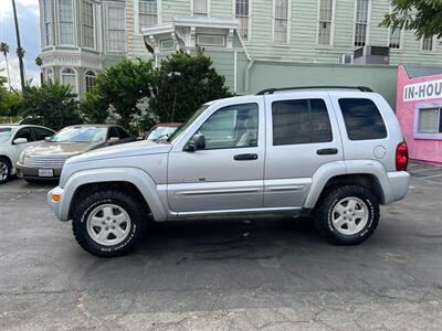
[[196, 55], [178, 51], [155, 72], [149, 110], [159, 121], [185, 121], [204, 103], [230, 96], [224, 82], [200, 50]]

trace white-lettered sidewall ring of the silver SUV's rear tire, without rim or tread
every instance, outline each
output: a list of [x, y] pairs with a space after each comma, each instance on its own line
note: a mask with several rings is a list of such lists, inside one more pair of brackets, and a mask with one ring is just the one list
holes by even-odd
[[[333, 224], [333, 211], [334, 207], [336, 206], [336, 204], [341, 201], [345, 197], [350, 197], [350, 196], [355, 196], [360, 199], [367, 206], [368, 209], [368, 221], [366, 226], [364, 226], [364, 228], [361, 231], [359, 231], [358, 233], [354, 234], [354, 235], [346, 235], [340, 233]], [[361, 242], [364, 239], [366, 239], [367, 237], [369, 237], [373, 231], [373, 227], [376, 227], [376, 206], [373, 205], [373, 202], [371, 201], [371, 196], [369, 196], [368, 194], [366, 194], [364, 191], [346, 191], [346, 192], [340, 192], [340, 194], [337, 194], [336, 196], [334, 196], [334, 199], [330, 201], [329, 203], [329, 207], [327, 211], [327, 232], [329, 232], [330, 235], [333, 235], [334, 237], [336, 237], [339, 242], [341, 243], [355, 243], [355, 242]]]

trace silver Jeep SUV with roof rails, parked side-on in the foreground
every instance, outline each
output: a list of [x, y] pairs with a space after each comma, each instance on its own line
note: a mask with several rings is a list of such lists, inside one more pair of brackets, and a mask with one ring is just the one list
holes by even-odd
[[49, 203], [97, 256], [130, 250], [149, 220], [222, 214], [311, 213], [333, 244], [361, 243], [406, 196], [408, 151], [380, 95], [339, 88], [208, 103], [162, 141], [69, 159]]

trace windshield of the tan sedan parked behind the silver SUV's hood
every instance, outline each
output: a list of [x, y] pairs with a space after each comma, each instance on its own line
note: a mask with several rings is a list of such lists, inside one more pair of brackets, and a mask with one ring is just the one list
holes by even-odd
[[106, 140], [107, 128], [70, 127], [51, 138], [51, 142], [103, 142]]

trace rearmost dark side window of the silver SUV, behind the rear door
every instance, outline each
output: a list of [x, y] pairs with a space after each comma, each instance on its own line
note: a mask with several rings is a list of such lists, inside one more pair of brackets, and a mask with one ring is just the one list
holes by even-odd
[[387, 137], [386, 125], [378, 107], [370, 99], [339, 99], [347, 135], [350, 140], [382, 139]]

